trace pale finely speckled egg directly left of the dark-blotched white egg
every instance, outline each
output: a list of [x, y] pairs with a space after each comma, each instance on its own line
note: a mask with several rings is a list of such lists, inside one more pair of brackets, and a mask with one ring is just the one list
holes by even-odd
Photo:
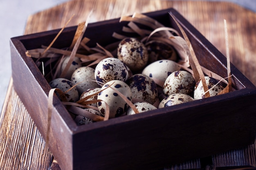
[[94, 71], [91, 67], [83, 66], [77, 68], [72, 74], [71, 82], [77, 84], [76, 89], [80, 95], [89, 88], [99, 87], [99, 84], [95, 82]]

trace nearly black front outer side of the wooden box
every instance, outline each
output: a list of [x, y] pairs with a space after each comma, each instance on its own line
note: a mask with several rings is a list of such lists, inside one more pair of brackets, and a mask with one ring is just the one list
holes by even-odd
[[252, 144], [256, 106], [249, 103], [256, 95], [242, 91], [239, 98], [98, 122], [109, 126], [74, 135], [74, 169], [150, 170]]

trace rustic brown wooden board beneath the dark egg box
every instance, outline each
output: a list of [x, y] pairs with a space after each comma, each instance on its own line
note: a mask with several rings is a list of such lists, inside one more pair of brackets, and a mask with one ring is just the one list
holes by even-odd
[[[91, 22], [96, 22], [171, 7], [223, 54], [226, 54], [223, 20], [227, 20], [231, 62], [256, 84], [256, 13], [229, 2], [72, 0], [29, 16], [25, 34], [61, 28], [73, 14], [69, 26], [77, 25], [86, 19], [91, 9], [94, 9]], [[220, 170], [255, 169], [255, 146], [256, 143], [163, 169], [198, 169], [207, 165]], [[50, 150], [45, 149], [45, 141], [13, 89], [11, 80], [0, 116], [0, 169], [47, 170], [49, 167], [60, 169]]]

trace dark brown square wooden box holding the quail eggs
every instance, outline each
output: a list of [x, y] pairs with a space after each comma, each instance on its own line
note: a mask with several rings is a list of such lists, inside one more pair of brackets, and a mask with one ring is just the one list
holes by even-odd
[[[177, 30], [172, 13], [186, 31], [200, 64], [222, 77], [226, 57], [174, 9], [147, 13]], [[85, 36], [101, 45], [117, 41], [126, 22], [119, 19], [88, 25]], [[54, 47], [70, 46], [76, 26], [64, 29]], [[47, 95], [51, 89], [29, 49], [49, 45], [59, 30], [11, 38], [13, 86], [38, 130], [46, 137]], [[211, 64], [207, 64], [211, 63]], [[65, 106], [54, 96], [49, 149], [62, 170], [150, 170], [247, 146], [255, 139], [256, 87], [231, 64], [235, 91], [77, 126]]]

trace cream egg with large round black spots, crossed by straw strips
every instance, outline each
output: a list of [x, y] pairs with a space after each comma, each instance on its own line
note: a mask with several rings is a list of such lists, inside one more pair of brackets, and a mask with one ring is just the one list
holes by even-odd
[[101, 90], [105, 90], [101, 91], [97, 98], [103, 100], [104, 102], [98, 102], [97, 105], [101, 115], [105, 116], [106, 103], [108, 104], [110, 109], [109, 118], [118, 117], [127, 109], [127, 103], [124, 101], [124, 99], [122, 99], [122, 97], [118, 95], [118, 93], [112, 88], [107, 88], [111, 84], [112, 88], [122, 93], [125, 97], [127, 97], [127, 99], [131, 100], [132, 97], [131, 89], [125, 82], [120, 80], [112, 80], [104, 84]]

